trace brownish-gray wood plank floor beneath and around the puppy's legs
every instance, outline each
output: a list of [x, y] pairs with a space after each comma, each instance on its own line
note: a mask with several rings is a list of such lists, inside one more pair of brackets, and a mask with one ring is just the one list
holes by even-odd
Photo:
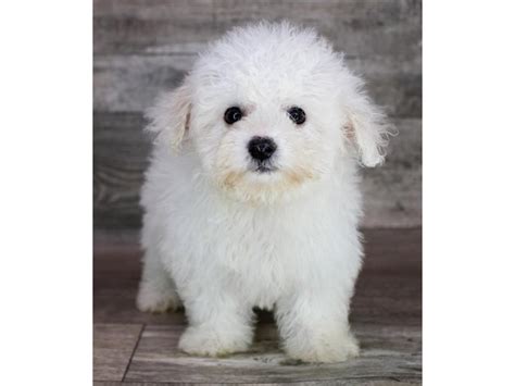
[[261, 311], [249, 352], [217, 359], [181, 353], [176, 344], [186, 327], [184, 313], [147, 314], [134, 306], [140, 273], [137, 235], [97, 233], [96, 384], [420, 384], [422, 232], [364, 234], [366, 260], [351, 314], [362, 354], [344, 363], [313, 365], [285, 358], [273, 315]]

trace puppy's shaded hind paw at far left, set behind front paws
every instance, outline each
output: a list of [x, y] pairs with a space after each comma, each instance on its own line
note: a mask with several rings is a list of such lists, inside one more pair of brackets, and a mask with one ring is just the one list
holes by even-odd
[[183, 303], [173, 288], [158, 289], [143, 282], [139, 286], [136, 306], [141, 312], [161, 313], [176, 311]]

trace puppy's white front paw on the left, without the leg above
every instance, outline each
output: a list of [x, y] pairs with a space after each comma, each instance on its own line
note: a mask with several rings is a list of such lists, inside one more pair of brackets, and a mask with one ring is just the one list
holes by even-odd
[[234, 331], [221, 333], [209, 327], [188, 327], [179, 339], [179, 349], [192, 356], [224, 357], [246, 351], [250, 344], [251, 337]]

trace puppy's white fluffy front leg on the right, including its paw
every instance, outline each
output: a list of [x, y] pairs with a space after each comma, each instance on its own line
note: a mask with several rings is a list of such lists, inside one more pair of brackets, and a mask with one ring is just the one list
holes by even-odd
[[277, 303], [277, 323], [288, 357], [340, 362], [357, 356], [357, 341], [348, 323], [348, 299], [331, 295], [300, 292]]

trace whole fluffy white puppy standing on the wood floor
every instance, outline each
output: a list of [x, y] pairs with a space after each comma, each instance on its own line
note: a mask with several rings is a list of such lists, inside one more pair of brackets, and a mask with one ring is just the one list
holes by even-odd
[[290, 358], [356, 356], [357, 164], [382, 162], [388, 125], [343, 55], [288, 23], [235, 28], [149, 117], [138, 308], [183, 303], [191, 354], [248, 349], [259, 307]]

